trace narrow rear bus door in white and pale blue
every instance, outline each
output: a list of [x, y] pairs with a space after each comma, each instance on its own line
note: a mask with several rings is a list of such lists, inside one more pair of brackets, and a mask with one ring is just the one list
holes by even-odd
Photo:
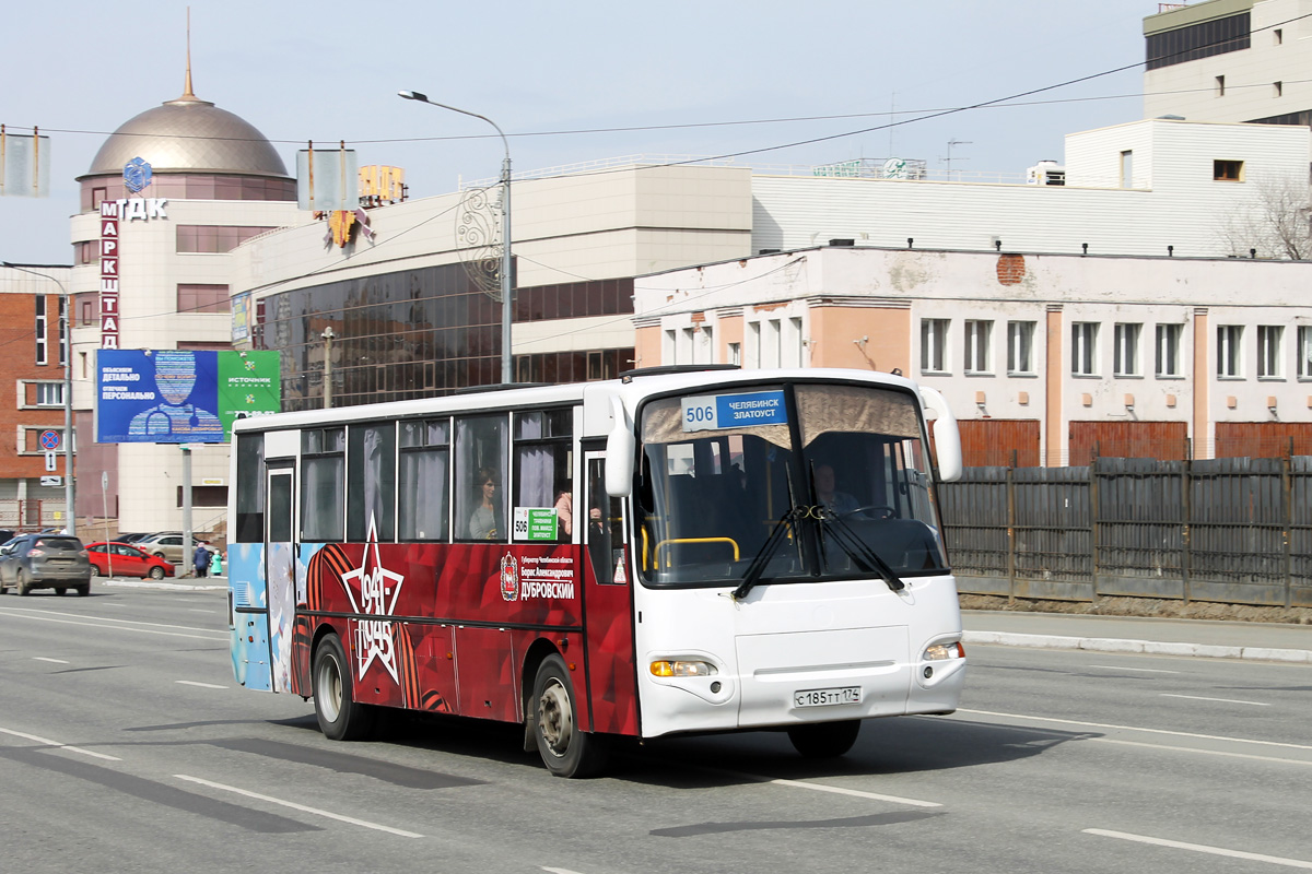
[[291, 692], [291, 638], [297, 608], [295, 463], [270, 466], [265, 482], [264, 579], [273, 692]]

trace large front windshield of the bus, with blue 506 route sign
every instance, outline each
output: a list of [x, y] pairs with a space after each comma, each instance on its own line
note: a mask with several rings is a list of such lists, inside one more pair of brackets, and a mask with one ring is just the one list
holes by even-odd
[[753, 586], [900, 588], [947, 573], [909, 392], [798, 383], [665, 397], [643, 408], [640, 435], [648, 586], [736, 584], [753, 563]]

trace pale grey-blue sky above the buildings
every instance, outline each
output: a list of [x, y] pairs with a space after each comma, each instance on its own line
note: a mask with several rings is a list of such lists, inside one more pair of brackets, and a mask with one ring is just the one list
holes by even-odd
[[[290, 173], [306, 140], [346, 140], [361, 165], [405, 168], [412, 198], [496, 177], [504, 151], [483, 122], [404, 101], [400, 89], [495, 121], [516, 173], [749, 151], [736, 161], [900, 156], [943, 170], [949, 140], [962, 143], [951, 155], [963, 178], [1023, 173], [1060, 160], [1068, 132], [1140, 118], [1141, 68], [1018, 98], [1023, 106], [911, 119], [1136, 64], [1143, 17], [1157, 12], [1145, 0], [190, 7], [198, 97], [255, 124]], [[73, 180], [114, 128], [182, 93], [186, 4], [47, 0], [22, 4], [14, 24], [0, 122], [50, 135], [52, 191], [0, 198], [0, 259], [71, 263]], [[904, 123], [884, 128], [891, 119]], [[775, 148], [817, 138], [836, 139]]]

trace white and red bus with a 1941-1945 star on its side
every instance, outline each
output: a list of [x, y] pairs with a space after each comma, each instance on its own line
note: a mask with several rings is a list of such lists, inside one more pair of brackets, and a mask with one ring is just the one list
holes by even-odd
[[862, 719], [956, 708], [933, 480], [960, 442], [899, 376], [656, 368], [234, 440], [232, 668], [312, 697], [329, 738], [384, 706], [517, 722], [573, 777], [614, 736], [786, 730], [834, 756]]

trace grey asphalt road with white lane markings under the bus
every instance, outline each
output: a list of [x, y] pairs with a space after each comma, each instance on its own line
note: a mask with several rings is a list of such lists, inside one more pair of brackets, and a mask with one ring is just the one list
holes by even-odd
[[518, 731], [340, 744], [232, 680], [222, 591], [0, 599], [0, 866], [140, 871], [1312, 869], [1305, 664], [975, 646], [962, 710], [626, 744], [554, 778]]

